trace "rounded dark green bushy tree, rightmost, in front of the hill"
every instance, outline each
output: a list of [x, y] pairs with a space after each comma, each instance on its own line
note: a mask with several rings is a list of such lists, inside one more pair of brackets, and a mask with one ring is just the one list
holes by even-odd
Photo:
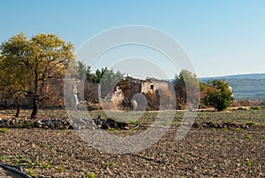
[[223, 111], [231, 105], [233, 100], [229, 84], [224, 81], [208, 81], [208, 88], [205, 91], [204, 103], [214, 106], [217, 111]]

